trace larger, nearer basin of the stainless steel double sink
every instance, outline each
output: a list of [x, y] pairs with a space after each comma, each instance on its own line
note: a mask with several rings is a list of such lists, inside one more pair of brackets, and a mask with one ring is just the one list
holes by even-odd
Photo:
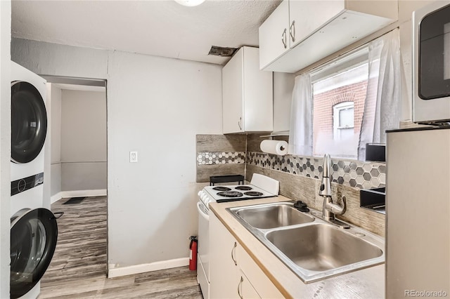
[[327, 224], [273, 230], [266, 238], [293, 263], [311, 271], [333, 270], [383, 255], [377, 246]]

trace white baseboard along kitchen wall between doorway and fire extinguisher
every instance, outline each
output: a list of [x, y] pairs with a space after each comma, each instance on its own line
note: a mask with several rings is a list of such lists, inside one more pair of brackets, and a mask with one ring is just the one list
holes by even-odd
[[110, 270], [108, 270], [108, 277], [120, 277], [131, 274], [138, 274], [144, 272], [151, 272], [157, 270], [164, 270], [176, 267], [184, 267], [189, 265], [189, 258], [175, 258], [174, 260], [162, 260], [160, 262], [134, 265], [129, 267], [112, 268], [115, 265], [110, 264]]

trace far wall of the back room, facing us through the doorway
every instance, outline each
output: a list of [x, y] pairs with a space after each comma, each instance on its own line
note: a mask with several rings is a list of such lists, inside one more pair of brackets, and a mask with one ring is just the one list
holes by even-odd
[[61, 190], [106, 190], [106, 93], [63, 89], [61, 99]]

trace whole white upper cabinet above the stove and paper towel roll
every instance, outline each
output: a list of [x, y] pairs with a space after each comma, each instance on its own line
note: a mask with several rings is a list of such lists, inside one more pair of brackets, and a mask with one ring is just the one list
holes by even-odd
[[259, 49], [244, 46], [222, 69], [223, 132], [271, 132], [272, 72], [259, 70]]

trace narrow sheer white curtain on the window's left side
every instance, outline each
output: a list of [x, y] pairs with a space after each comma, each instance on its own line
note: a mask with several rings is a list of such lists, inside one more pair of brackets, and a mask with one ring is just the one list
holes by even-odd
[[295, 77], [288, 152], [312, 156], [312, 87], [309, 72]]

